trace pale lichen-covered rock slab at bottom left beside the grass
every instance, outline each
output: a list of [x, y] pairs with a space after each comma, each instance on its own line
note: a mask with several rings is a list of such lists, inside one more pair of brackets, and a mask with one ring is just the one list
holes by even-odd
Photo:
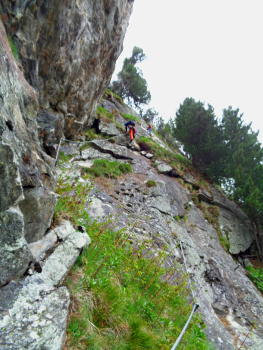
[[[80, 250], [90, 243], [86, 232], [70, 229], [42, 266], [42, 272], [23, 277], [1, 289], [1, 350], [61, 350], [66, 336], [69, 292], [60, 287]], [[63, 230], [63, 227], [61, 227]], [[59, 233], [64, 236], [64, 233]], [[71, 233], [70, 233], [71, 232]]]

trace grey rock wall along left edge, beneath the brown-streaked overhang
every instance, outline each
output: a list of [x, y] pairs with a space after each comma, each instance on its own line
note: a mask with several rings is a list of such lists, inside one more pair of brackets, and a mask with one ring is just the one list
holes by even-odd
[[[2, 22], [0, 81], [2, 285], [28, 268], [32, 260], [28, 242], [43, 237], [50, 226], [57, 202], [53, 192], [55, 162], [42, 150], [38, 141], [37, 95], [14, 60]], [[39, 224], [35, 224], [37, 221]]]

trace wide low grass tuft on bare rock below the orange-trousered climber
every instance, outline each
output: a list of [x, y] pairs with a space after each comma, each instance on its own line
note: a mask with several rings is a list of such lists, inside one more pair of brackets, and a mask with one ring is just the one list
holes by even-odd
[[95, 159], [92, 167], [87, 167], [85, 171], [94, 177], [117, 178], [120, 175], [132, 172], [131, 164], [119, 163], [117, 160]]

